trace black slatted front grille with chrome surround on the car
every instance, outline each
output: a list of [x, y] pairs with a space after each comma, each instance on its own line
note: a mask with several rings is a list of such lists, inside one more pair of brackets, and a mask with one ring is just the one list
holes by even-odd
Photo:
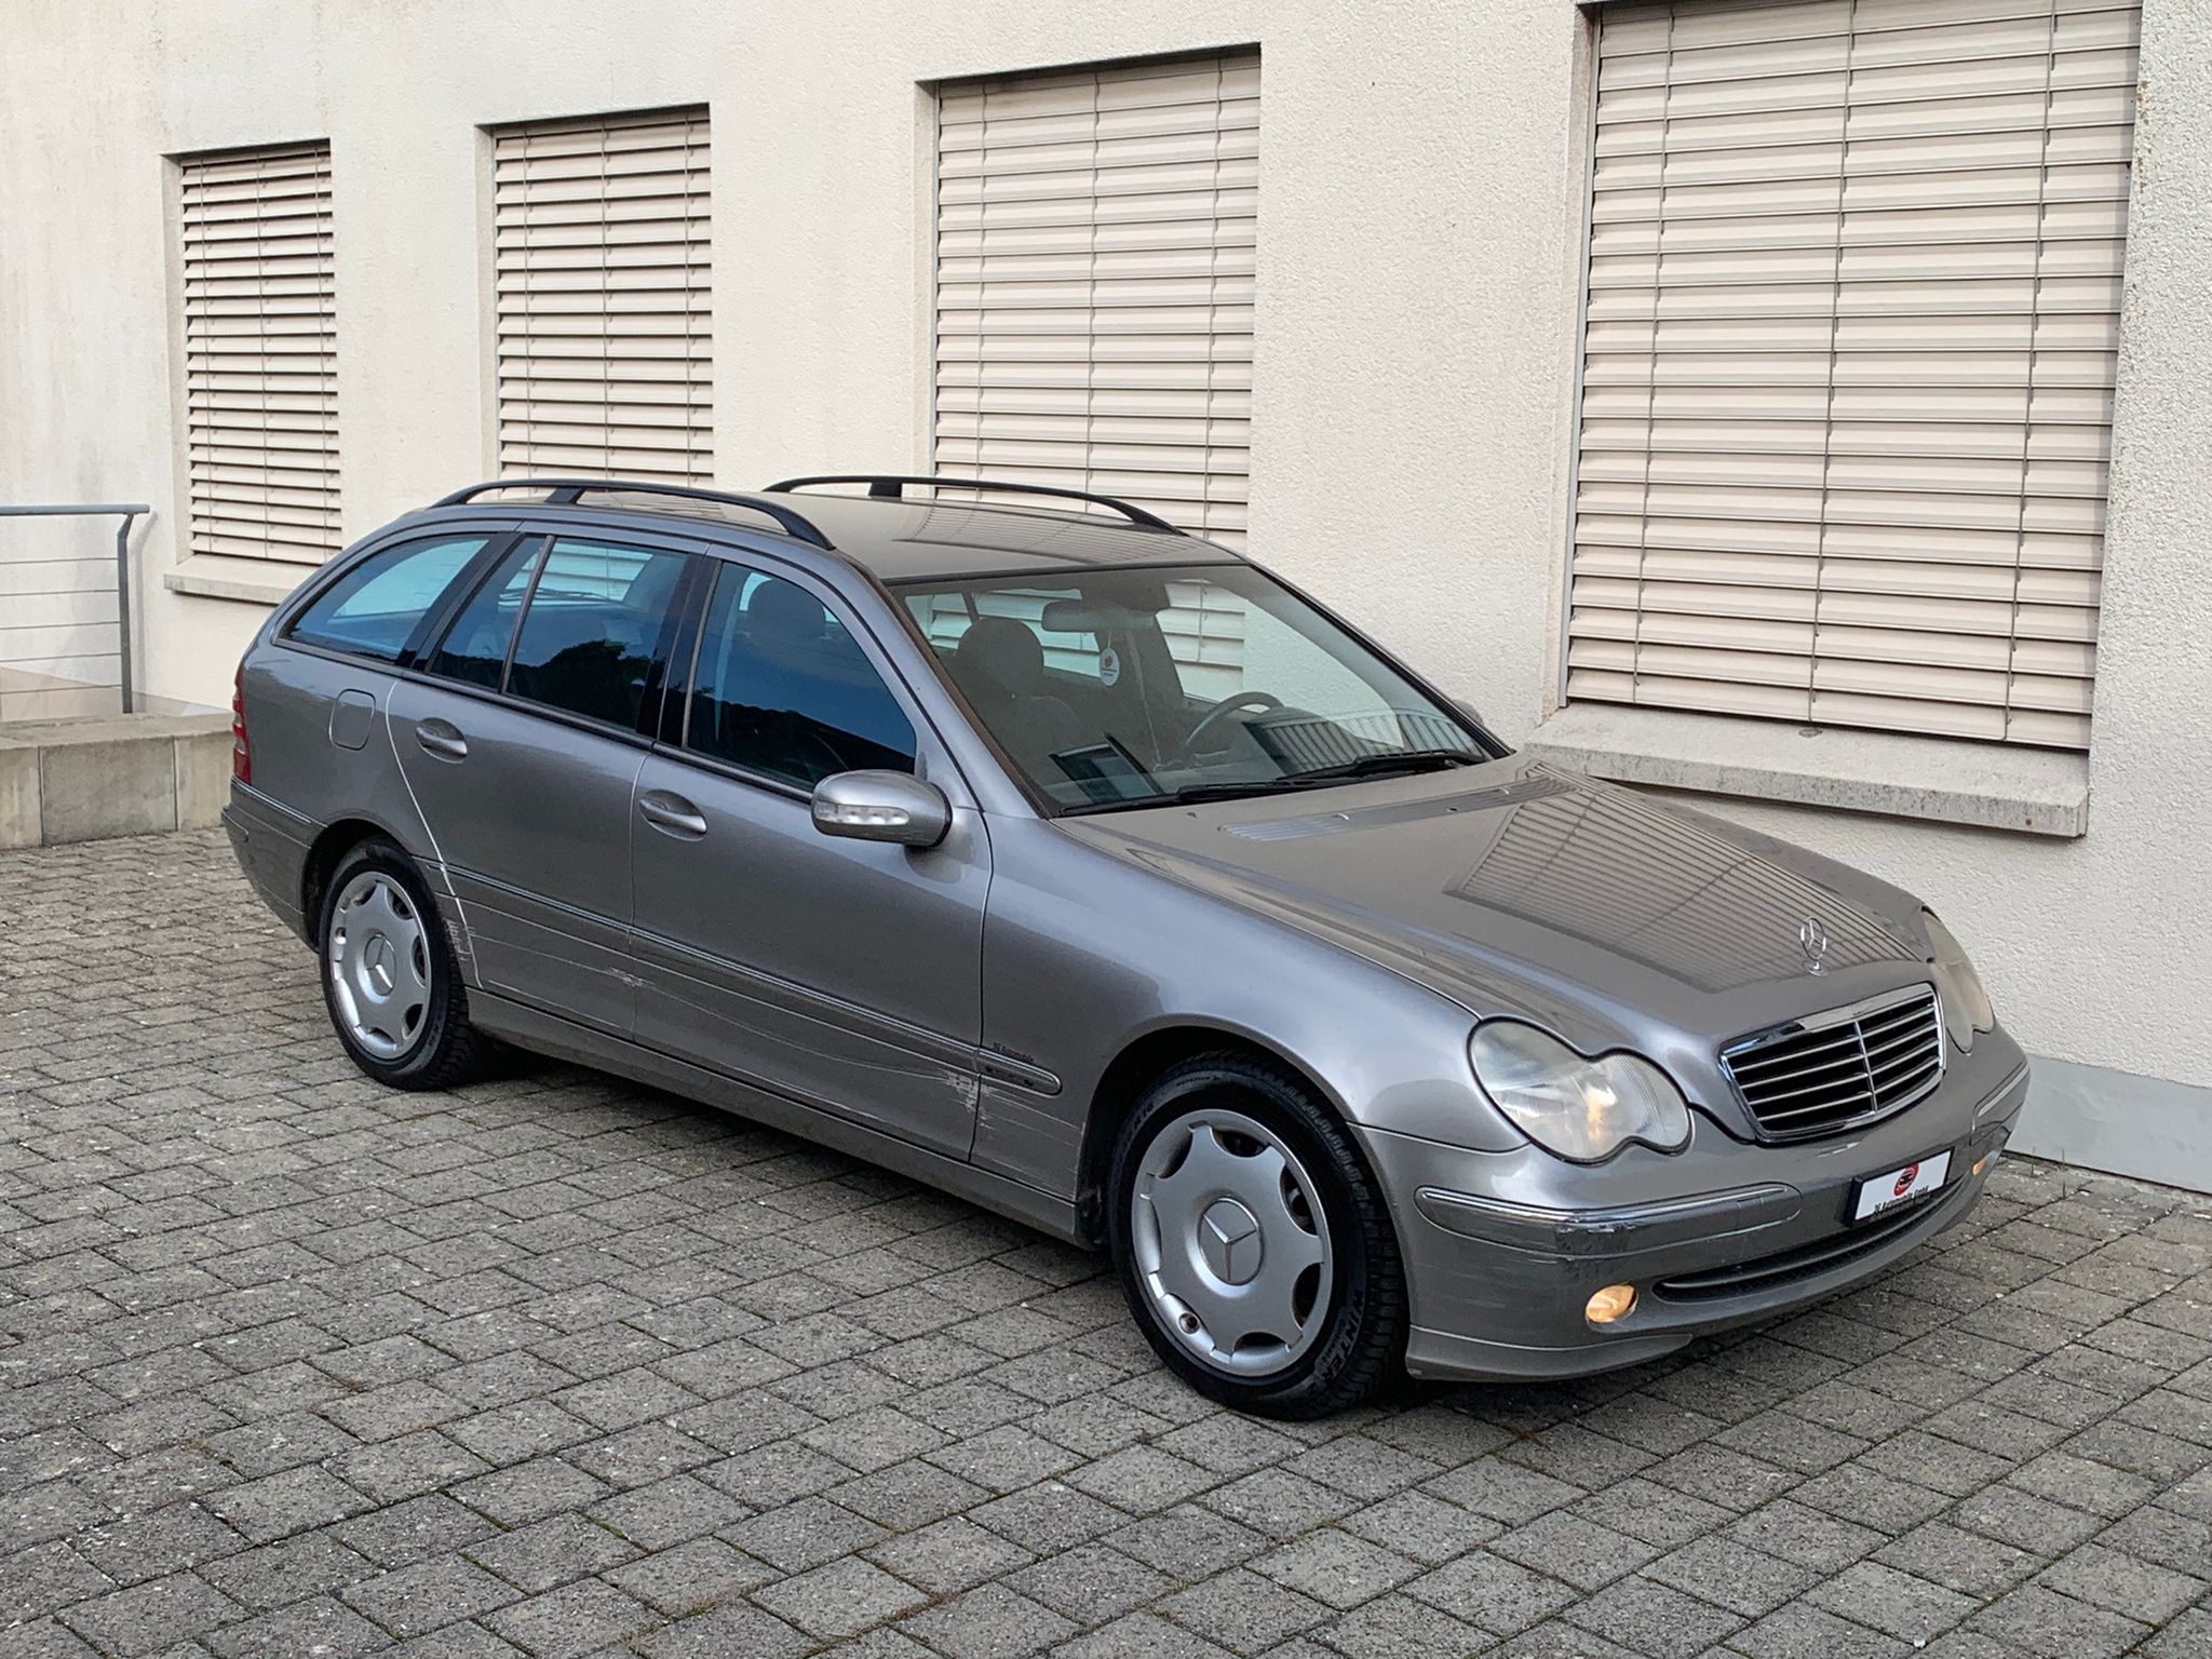
[[1942, 1082], [1942, 1006], [1916, 984], [1807, 1015], [1721, 1051], [1721, 1068], [1770, 1141], [1902, 1110]]

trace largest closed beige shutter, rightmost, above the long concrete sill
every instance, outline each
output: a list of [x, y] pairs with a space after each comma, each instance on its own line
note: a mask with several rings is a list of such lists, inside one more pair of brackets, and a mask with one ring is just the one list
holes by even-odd
[[1568, 699], [2088, 743], [2135, 42], [1601, 13]]

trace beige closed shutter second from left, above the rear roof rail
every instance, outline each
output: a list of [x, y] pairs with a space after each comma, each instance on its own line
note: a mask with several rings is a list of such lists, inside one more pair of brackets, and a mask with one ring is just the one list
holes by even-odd
[[491, 133], [500, 471], [714, 471], [703, 108]]

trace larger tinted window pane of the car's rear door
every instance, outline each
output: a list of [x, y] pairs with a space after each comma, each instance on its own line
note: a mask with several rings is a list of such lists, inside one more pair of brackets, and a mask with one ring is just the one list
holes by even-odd
[[686, 553], [562, 538], [546, 549], [507, 690], [635, 728]]

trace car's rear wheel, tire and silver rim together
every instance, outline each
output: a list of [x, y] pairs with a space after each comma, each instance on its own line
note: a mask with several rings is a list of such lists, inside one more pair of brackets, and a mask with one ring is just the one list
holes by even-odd
[[354, 1064], [394, 1088], [476, 1077], [493, 1044], [469, 1024], [460, 964], [414, 860], [372, 836], [323, 891], [323, 1002]]

